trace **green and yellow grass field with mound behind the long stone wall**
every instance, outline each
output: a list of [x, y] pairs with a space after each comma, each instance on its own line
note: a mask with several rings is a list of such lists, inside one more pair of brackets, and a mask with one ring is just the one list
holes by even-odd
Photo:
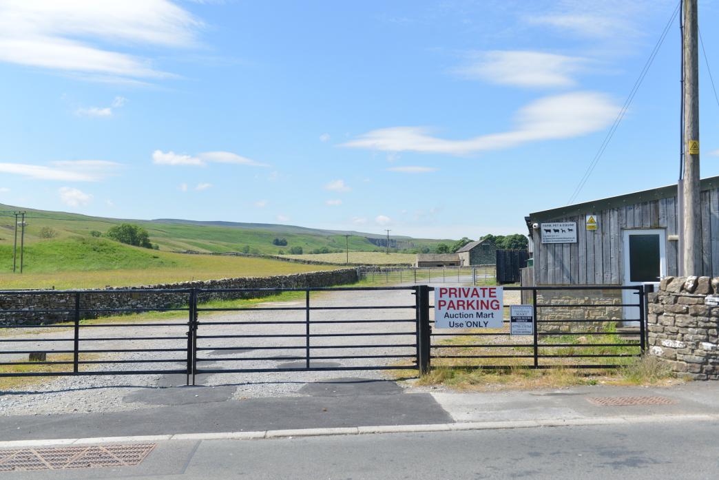
[[24, 265], [22, 275], [13, 274], [12, 246], [0, 245], [0, 288], [122, 287], [336, 268], [262, 258], [175, 254], [91, 237], [29, 244], [25, 247]]

